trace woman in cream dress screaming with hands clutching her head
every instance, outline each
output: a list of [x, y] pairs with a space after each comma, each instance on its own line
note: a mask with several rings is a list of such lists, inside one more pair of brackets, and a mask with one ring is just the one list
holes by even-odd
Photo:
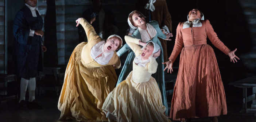
[[[125, 41], [135, 53], [133, 70], [106, 98], [102, 111], [110, 121], [117, 122], [168, 122], [164, 114], [161, 93], [151, 74], [156, 73], [160, 55], [158, 44], [147, 44], [137, 38], [125, 36]], [[141, 49], [140, 45], [144, 45]], [[153, 46], [154, 45], [154, 46]]]

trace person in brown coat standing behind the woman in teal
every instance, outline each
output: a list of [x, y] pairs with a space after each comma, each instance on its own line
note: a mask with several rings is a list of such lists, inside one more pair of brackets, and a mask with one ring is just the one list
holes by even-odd
[[[172, 34], [171, 15], [168, 11], [166, 0], [138, 0], [136, 9], [147, 16], [147, 21], [157, 21], [164, 34]], [[163, 47], [164, 61], [168, 61], [167, 41], [162, 38], [159, 38], [159, 40]]]

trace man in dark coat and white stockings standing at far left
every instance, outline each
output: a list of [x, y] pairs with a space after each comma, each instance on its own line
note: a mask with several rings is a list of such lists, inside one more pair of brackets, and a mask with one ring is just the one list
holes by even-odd
[[[20, 80], [19, 107], [29, 109], [41, 109], [35, 101], [35, 77], [42, 70], [42, 45], [43, 20], [36, 7], [37, 0], [24, 0], [25, 5], [16, 14], [13, 24], [13, 35], [15, 36], [15, 49], [17, 55], [17, 69]], [[26, 90], [29, 90], [28, 104], [25, 102]], [[27, 106], [28, 105], [28, 106]]]

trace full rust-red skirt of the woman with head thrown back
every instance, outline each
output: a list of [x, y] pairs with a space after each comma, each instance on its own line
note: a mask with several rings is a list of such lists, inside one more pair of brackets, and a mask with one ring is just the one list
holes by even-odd
[[185, 46], [171, 102], [170, 118], [227, 114], [226, 97], [216, 56], [210, 45]]

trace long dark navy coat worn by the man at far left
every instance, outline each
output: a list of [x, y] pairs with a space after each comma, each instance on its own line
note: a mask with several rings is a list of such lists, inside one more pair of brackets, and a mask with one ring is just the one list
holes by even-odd
[[36, 11], [37, 17], [33, 17], [30, 9], [24, 5], [16, 14], [13, 24], [15, 37], [15, 49], [17, 56], [18, 76], [29, 79], [35, 77], [42, 70], [42, 37], [34, 34], [29, 36], [30, 29], [41, 30], [43, 19]]

